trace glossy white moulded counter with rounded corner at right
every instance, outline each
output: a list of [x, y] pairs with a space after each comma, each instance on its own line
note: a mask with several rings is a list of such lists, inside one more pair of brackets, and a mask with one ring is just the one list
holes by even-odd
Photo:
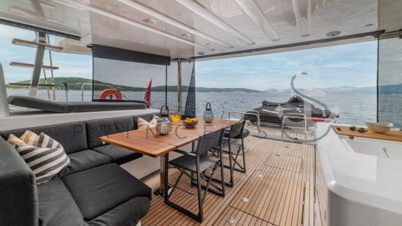
[[[317, 124], [317, 137], [331, 125]], [[402, 214], [402, 160], [356, 153], [341, 137], [345, 138], [330, 128], [317, 141], [328, 189], [345, 199]]]

